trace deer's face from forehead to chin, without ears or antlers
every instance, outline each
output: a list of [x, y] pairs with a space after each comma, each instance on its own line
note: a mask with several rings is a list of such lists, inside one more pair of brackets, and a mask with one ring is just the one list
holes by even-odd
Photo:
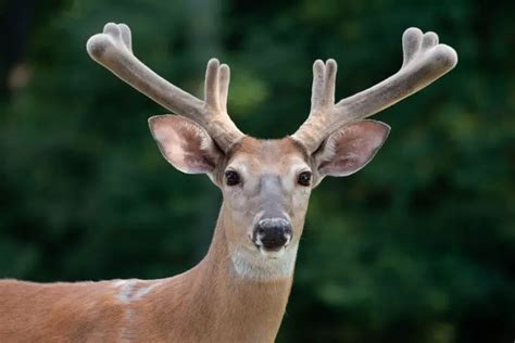
[[218, 168], [227, 241], [238, 245], [229, 247], [271, 258], [297, 249], [313, 185], [302, 148], [290, 138], [246, 137]]

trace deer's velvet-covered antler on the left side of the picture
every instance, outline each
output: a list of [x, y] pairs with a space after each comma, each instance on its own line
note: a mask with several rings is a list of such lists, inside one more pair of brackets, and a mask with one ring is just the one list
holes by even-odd
[[227, 152], [244, 135], [227, 114], [230, 71], [212, 59], [205, 72], [205, 101], [185, 92], [152, 72], [133, 53], [130, 29], [125, 24], [105, 24], [102, 34], [89, 38], [91, 59], [147, 97], [176, 114], [201, 125]]

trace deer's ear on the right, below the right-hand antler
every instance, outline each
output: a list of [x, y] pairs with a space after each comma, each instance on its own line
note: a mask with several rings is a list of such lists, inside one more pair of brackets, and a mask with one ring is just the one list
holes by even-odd
[[332, 132], [313, 155], [321, 179], [348, 176], [363, 168], [389, 132], [388, 125], [376, 120], [352, 123]]

